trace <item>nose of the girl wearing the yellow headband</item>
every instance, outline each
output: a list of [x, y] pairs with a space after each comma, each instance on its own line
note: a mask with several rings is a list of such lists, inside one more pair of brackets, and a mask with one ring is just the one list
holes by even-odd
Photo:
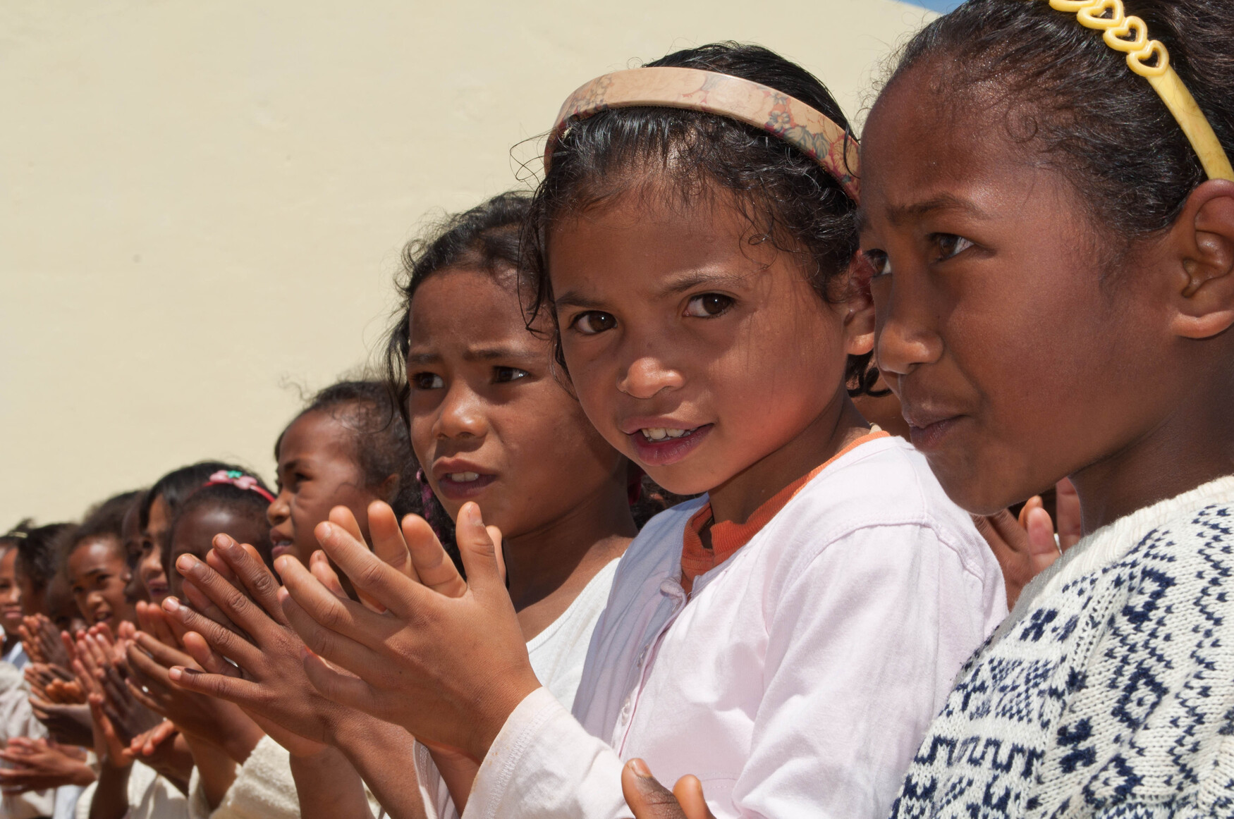
[[887, 375], [908, 375], [943, 355], [928, 294], [913, 287], [911, 274], [879, 276], [870, 282], [876, 329], [874, 358]]

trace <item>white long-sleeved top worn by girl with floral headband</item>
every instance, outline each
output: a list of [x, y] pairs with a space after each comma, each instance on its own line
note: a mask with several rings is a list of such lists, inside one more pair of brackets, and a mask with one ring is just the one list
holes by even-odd
[[465, 817], [628, 817], [622, 760], [703, 781], [719, 819], [886, 817], [964, 660], [1007, 612], [971, 519], [898, 438], [842, 455], [732, 558], [681, 588], [701, 501], [631, 544], [575, 719], [511, 714]]

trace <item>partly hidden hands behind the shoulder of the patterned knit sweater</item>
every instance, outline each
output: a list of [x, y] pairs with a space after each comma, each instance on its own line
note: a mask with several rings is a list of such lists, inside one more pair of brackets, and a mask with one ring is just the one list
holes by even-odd
[[1013, 608], [1024, 586], [1045, 571], [1059, 555], [1074, 546], [1082, 534], [1080, 497], [1071, 481], [1062, 479], [1056, 487], [1059, 532], [1055, 540], [1054, 522], [1041, 504], [1040, 496], [1024, 503], [1019, 519], [1002, 511], [990, 516], [974, 516], [972, 522], [990, 544], [990, 550], [1002, 567], [1007, 588], [1007, 607]]

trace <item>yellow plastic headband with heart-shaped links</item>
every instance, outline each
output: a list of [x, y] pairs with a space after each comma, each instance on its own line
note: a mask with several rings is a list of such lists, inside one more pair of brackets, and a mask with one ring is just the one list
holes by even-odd
[[1170, 52], [1160, 41], [1149, 39], [1148, 26], [1139, 17], [1127, 15], [1123, 0], [1049, 0], [1049, 4], [1056, 11], [1075, 12], [1081, 26], [1104, 31], [1102, 38], [1106, 44], [1127, 54], [1130, 69], [1148, 79], [1153, 90], [1170, 109], [1208, 178], [1234, 181], [1229, 157], [1213, 132], [1213, 126], [1196, 104], [1196, 97], [1191, 96], [1178, 73], [1171, 68]]

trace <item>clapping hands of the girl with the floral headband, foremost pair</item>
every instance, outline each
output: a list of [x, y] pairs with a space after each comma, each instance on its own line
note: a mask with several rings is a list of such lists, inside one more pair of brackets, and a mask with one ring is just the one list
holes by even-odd
[[485, 528], [475, 503], [459, 511], [464, 583], [421, 518], [407, 516], [401, 532], [391, 532], [383, 519], [392, 513], [383, 506], [369, 508], [371, 553], [358, 529], [339, 524], [338, 508], [316, 534], [357, 592], [386, 611], [341, 599], [297, 560], [279, 558], [283, 609], [312, 651], [305, 671], [327, 698], [481, 760], [510, 713], [539, 687], [501, 578], [501, 533]]

